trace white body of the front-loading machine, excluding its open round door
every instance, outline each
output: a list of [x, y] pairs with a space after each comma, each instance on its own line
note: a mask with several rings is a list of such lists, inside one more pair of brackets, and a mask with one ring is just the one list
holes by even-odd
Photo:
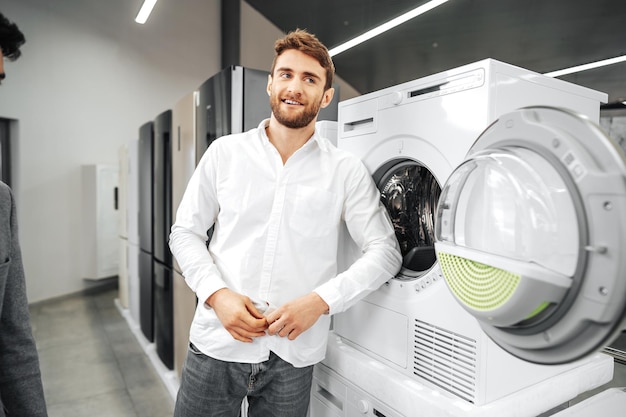
[[[375, 178], [394, 161], [427, 168], [440, 190], [499, 115], [545, 105], [597, 121], [602, 101], [602, 93], [488, 59], [339, 103], [338, 147]], [[343, 267], [353, 259], [347, 247]], [[333, 331], [382, 366], [477, 406], [581, 366], [534, 365], [506, 353], [453, 298], [434, 260], [421, 271], [403, 268], [336, 315]]]

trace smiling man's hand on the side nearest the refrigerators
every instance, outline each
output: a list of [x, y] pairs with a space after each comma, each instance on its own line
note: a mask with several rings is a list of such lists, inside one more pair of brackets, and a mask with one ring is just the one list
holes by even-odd
[[259, 313], [250, 298], [222, 288], [206, 300], [224, 328], [241, 342], [252, 342], [253, 337], [265, 336], [267, 320]]

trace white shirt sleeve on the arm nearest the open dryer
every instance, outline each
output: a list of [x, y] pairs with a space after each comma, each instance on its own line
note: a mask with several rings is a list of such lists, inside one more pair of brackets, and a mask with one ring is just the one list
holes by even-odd
[[402, 256], [387, 210], [371, 175], [359, 160], [346, 180], [343, 218], [361, 255], [350, 267], [315, 289], [340, 313], [378, 289], [400, 270]]

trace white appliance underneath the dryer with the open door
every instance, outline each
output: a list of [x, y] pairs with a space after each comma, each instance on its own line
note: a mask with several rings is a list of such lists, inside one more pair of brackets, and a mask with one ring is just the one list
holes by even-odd
[[613, 378], [613, 358], [608, 355], [598, 353], [578, 364], [528, 388], [476, 406], [391, 369], [331, 332], [326, 359], [315, 367], [310, 416], [534, 417]]

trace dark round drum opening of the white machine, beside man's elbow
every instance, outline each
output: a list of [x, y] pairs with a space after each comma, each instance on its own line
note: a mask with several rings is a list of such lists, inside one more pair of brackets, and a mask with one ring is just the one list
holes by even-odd
[[397, 278], [417, 278], [436, 262], [434, 220], [441, 187], [428, 168], [411, 159], [387, 162], [374, 181], [402, 252]]

